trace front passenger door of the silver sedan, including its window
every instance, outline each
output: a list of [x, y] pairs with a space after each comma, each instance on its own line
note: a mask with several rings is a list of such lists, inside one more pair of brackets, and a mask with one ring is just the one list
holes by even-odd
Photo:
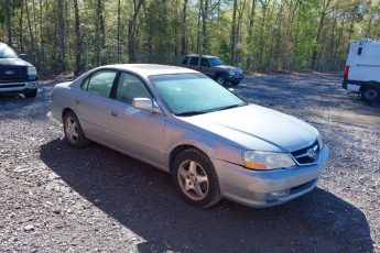
[[144, 81], [122, 72], [110, 102], [110, 140], [123, 152], [163, 165], [165, 116], [132, 106], [134, 98], [154, 100]]

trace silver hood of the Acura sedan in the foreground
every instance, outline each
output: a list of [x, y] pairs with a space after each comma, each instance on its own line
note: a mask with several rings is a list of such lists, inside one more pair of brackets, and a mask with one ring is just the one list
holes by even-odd
[[245, 150], [292, 152], [312, 144], [318, 136], [318, 131], [304, 121], [256, 105], [181, 120]]

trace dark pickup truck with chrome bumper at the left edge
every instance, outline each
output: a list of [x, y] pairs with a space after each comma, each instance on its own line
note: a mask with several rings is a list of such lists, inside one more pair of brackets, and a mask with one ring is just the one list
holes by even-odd
[[[25, 55], [20, 55], [26, 58]], [[35, 67], [0, 42], [0, 94], [23, 94], [26, 98], [37, 95], [39, 78]]]

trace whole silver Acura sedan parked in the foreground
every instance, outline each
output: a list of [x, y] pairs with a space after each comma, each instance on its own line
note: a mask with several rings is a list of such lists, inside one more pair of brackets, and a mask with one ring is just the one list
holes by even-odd
[[174, 66], [98, 67], [56, 85], [50, 116], [72, 146], [94, 141], [163, 169], [204, 208], [294, 199], [316, 186], [329, 153], [312, 125]]

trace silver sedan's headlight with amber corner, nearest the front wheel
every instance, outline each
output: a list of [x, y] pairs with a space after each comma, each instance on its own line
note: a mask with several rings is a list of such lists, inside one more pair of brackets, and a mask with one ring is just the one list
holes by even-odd
[[295, 165], [293, 158], [286, 153], [262, 151], [245, 152], [245, 164], [252, 169], [287, 168]]

